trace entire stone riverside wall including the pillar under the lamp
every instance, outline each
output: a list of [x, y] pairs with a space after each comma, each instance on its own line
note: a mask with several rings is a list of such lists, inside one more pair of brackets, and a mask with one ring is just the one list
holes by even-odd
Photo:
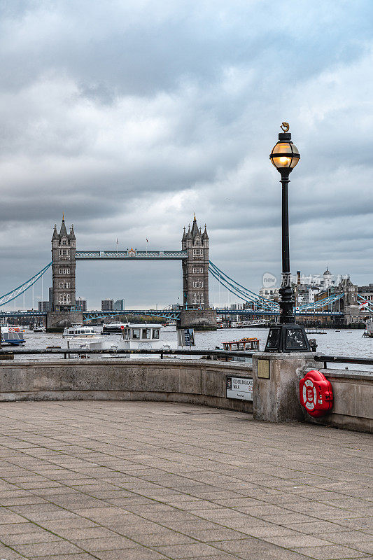
[[[0, 361], [0, 401], [153, 400], [253, 413], [258, 421], [306, 421], [373, 431], [373, 373], [320, 369], [314, 354], [258, 352], [241, 362], [88, 358]], [[267, 360], [268, 376], [260, 373]], [[316, 369], [332, 383], [332, 411], [314, 419], [300, 405], [299, 381]], [[253, 379], [253, 402], [227, 398], [227, 377]]]

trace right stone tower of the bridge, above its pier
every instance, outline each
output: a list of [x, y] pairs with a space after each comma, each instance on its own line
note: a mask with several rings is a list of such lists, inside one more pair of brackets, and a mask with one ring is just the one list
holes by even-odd
[[209, 309], [209, 235], [198, 228], [194, 218], [192, 230], [183, 233], [181, 248], [187, 251], [183, 260], [183, 305], [185, 309], [199, 307]]

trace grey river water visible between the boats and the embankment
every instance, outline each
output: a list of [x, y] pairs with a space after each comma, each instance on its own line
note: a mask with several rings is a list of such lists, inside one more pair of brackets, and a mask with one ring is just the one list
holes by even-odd
[[[94, 327], [94, 330], [101, 332], [100, 327]], [[161, 330], [163, 342], [176, 342], [176, 328], [164, 327]], [[332, 356], [354, 356], [360, 358], [373, 358], [373, 338], [363, 338], [363, 330], [325, 330], [324, 335], [309, 335], [309, 338], [315, 338], [318, 344], [317, 351]], [[257, 337], [260, 341], [260, 350], [264, 350], [265, 342], [267, 340], [268, 329], [265, 328], [240, 328], [240, 329], [219, 329], [213, 331], [197, 331], [195, 332], [195, 348], [202, 350], [213, 350], [216, 346], [223, 348], [222, 343], [228, 342], [242, 337]], [[45, 333], [45, 332], [32, 332], [24, 333], [26, 344], [24, 348], [28, 349], [42, 349], [46, 346], [61, 346], [66, 348], [66, 339], [62, 338], [60, 333]], [[118, 340], [118, 335], [111, 335], [109, 339]], [[29, 360], [34, 356], [24, 355], [17, 356], [16, 360]], [[57, 356], [38, 355], [38, 360], [55, 359]], [[349, 370], [373, 370], [372, 366], [353, 365], [353, 364], [335, 364], [335, 368]]]

